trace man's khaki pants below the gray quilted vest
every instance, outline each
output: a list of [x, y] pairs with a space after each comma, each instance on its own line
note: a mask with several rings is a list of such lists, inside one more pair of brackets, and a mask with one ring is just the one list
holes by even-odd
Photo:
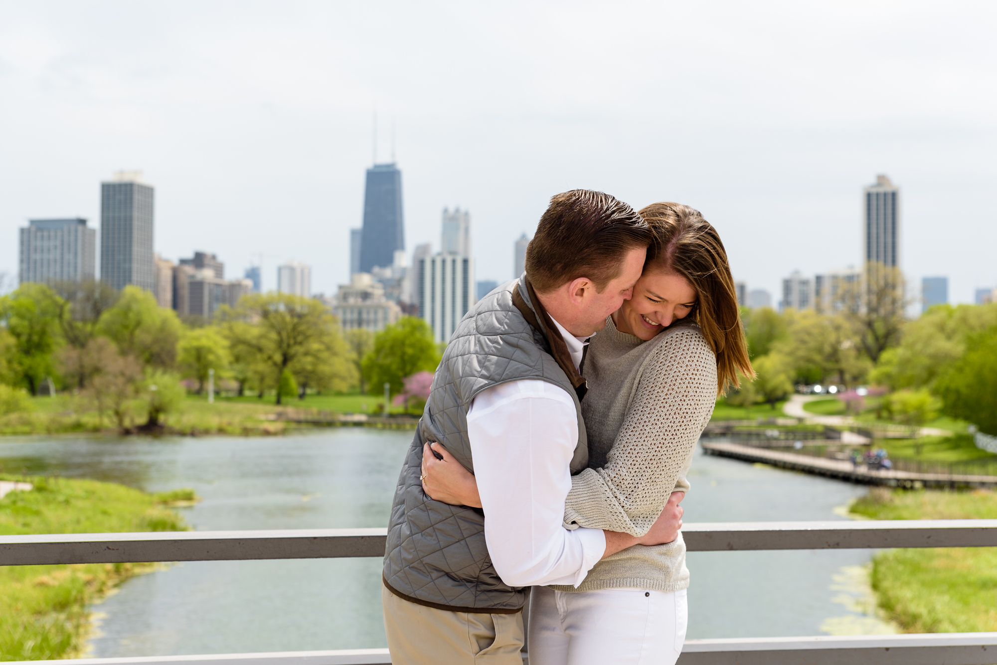
[[522, 665], [522, 612], [481, 614], [426, 607], [381, 585], [393, 665]]

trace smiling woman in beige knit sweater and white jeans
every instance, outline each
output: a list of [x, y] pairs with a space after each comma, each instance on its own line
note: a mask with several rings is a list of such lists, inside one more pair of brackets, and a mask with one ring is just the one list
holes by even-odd
[[[592, 337], [582, 414], [589, 466], [572, 478], [564, 523], [644, 536], [685, 480], [718, 394], [752, 376], [723, 243], [700, 213], [678, 203], [640, 211], [654, 229], [633, 297]], [[447, 487], [481, 506], [473, 477], [439, 444], [424, 487]], [[427, 487], [427, 493], [433, 494]], [[681, 495], [677, 495], [681, 500]], [[675, 501], [676, 499], [673, 499]], [[595, 564], [577, 587], [530, 596], [533, 665], [673, 665], [686, 632], [689, 571], [681, 534]]]

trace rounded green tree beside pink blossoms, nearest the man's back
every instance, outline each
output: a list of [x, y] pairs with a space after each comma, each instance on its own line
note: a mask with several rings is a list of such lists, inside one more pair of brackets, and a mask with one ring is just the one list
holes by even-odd
[[363, 371], [371, 394], [381, 394], [385, 383], [391, 384], [392, 394], [398, 394], [405, 387], [406, 376], [434, 372], [438, 364], [440, 352], [429, 324], [403, 317], [374, 335], [374, 347], [364, 356]]

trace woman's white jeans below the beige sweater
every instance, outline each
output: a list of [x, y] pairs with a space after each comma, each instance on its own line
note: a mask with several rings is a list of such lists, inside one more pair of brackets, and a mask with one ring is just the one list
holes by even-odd
[[674, 665], [688, 616], [685, 589], [567, 593], [534, 586], [529, 665]]

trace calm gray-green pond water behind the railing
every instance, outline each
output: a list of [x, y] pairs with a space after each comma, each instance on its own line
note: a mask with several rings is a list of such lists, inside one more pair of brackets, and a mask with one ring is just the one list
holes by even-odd
[[[4, 439], [7, 472], [150, 492], [192, 487], [198, 531], [384, 527], [411, 431], [279, 438]], [[698, 452], [687, 522], [843, 520], [864, 488]], [[867, 551], [690, 553], [689, 637], [860, 634]], [[386, 646], [377, 558], [195, 561], [134, 577], [94, 607], [94, 657]], [[866, 598], [867, 599], [867, 598]]]

